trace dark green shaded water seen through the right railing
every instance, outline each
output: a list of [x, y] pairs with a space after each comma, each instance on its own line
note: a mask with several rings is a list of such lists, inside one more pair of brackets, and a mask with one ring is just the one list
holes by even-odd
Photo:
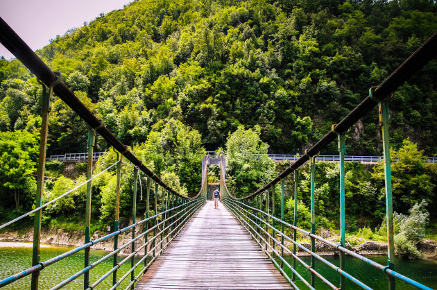
[[[366, 255], [369, 259], [373, 261], [385, 265], [387, 262], [387, 257], [385, 255]], [[310, 257], [301, 257], [302, 260], [310, 264]], [[339, 256], [324, 256], [324, 259], [331, 262], [336, 266], [340, 266], [340, 257]], [[278, 259], [279, 260], [279, 259]], [[280, 260], [279, 260], [280, 261]], [[278, 261], [278, 262], [279, 262]], [[291, 256], [286, 257], [286, 261], [289, 262], [290, 265], [293, 265], [293, 258]], [[301, 266], [299, 262], [296, 261], [298, 273], [302, 275], [303, 278], [309, 281], [309, 272], [304, 266]], [[284, 266], [284, 268], [286, 268]], [[329, 268], [316, 259], [316, 271], [322, 274], [329, 282], [340, 286], [340, 274], [336, 273], [336, 271]], [[368, 287], [372, 289], [387, 289], [388, 288], [388, 278], [387, 275], [382, 273], [382, 271], [374, 268], [365, 262], [362, 262], [359, 259], [346, 256], [345, 258], [345, 271], [350, 275], [354, 276], [361, 282], [364, 282]], [[402, 275], [406, 275], [406, 277], [411, 278], [417, 282], [425, 284], [432, 289], [437, 289], [437, 260], [420, 260], [420, 261], [410, 261], [406, 259], [395, 259], [395, 271], [401, 273]], [[286, 269], [287, 275], [291, 278], [291, 271]], [[330, 289], [326, 284], [320, 281], [320, 279], [316, 279], [316, 289]], [[299, 278], [296, 278], [299, 280]], [[303, 282], [297, 282], [296, 284], [299, 288], [307, 289], [307, 286]], [[361, 289], [357, 284], [354, 284], [350, 280], [346, 279], [345, 289]], [[396, 280], [396, 289], [415, 289], [414, 287], [409, 286], [409, 284], [405, 284], [404, 282], [400, 282], [400, 280]]]

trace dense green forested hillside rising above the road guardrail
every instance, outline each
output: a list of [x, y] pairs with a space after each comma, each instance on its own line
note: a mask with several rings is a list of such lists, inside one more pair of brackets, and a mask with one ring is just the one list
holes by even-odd
[[[198, 130], [207, 150], [259, 124], [271, 153], [295, 153], [437, 31], [436, 12], [425, 0], [135, 1], [37, 53], [126, 144], [173, 118]], [[410, 137], [436, 153], [436, 72], [433, 62], [397, 91], [394, 148]], [[1, 60], [0, 80], [1, 130], [38, 126], [35, 78]], [[53, 112], [49, 153], [84, 151], [82, 123], [61, 101]], [[380, 154], [376, 113], [364, 121], [348, 153]]]

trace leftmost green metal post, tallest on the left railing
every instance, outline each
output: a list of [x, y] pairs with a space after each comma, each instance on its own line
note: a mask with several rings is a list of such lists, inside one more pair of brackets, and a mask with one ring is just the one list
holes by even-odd
[[[37, 169], [37, 193], [35, 198], [35, 207], [42, 205], [42, 197], [44, 195], [44, 171], [46, 166], [46, 147], [47, 133], [49, 132], [49, 113], [51, 111], [51, 96], [53, 94], [53, 86], [49, 94], [46, 93], [46, 87], [42, 85], [42, 123], [40, 136], [40, 155], [38, 157]], [[40, 263], [40, 240], [41, 240], [41, 219], [42, 210], [35, 212], [35, 221], [33, 225], [33, 255], [32, 266]], [[39, 286], [40, 271], [32, 273], [31, 289], [36, 290]]]

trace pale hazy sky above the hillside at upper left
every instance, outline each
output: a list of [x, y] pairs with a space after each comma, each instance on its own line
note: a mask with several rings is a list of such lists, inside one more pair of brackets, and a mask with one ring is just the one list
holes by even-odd
[[[0, 17], [34, 51], [71, 28], [123, 8], [133, 0], [0, 0]], [[0, 32], [1, 33], [1, 32]], [[15, 58], [0, 44], [0, 57]]]

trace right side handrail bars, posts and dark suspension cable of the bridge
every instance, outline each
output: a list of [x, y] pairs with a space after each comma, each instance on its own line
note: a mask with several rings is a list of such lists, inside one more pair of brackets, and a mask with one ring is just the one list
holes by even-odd
[[[225, 201], [225, 204], [228, 206], [228, 208], [234, 212], [234, 215], [237, 216], [237, 218], [240, 220], [241, 224], [243, 224], [243, 226], [245, 226], [245, 228], [249, 231], [249, 232], [254, 232], [254, 234], [252, 234], [252, 237], [254, 237], [255, 241], [257, 241], [257, 243], [259, 244], [259, 246], [262, 247], [262, 242], [264, 241], [264, 243], [266, 244], [265, 248], [263, 249], [266, 254], [271, 258], [272, 262], [278, 266], [278, 269], [281, 271], [282, 275], [284, 275], [284, 277], [289, 280], [289, 282], [295, 286], [295, 284], [293, 283], [294, 281], [294, 277], [296, 275], [296, 271], [295, 271], [295, 261], [297, 260], [298, 262], [300, 262], [302, 265], [304, 265], [309, 271], [310, 271], [310, 275], [311, 275], [311, 287], [314, 287], [314, 280], [315, 277], [320, 278], [323, 282], [325, 282], [329, 287], [332, 287], [333, 289], [339, 289], [337, 287], [335, 287], [332, 283], [330, 283], [329, 281], [327, 281], [325, 278], [323, 278], [321, 275], [319, 275], [318, 273], [316, 273], [315, 271], [315, 259], [320, 259], [320, 260], [324, 260], [323, 258], [321, 258], [320, 256], [315, 254], [316, 251], [316, 239], [318, 239], [319, 241], [322, 241], [325, 244], [328, 244], [330, 246], [334, 246], [335, 248], [337, 248], [338, 250], [340, 250], [341, 253], [341, 266], [339, 267], [335, 267], [335, 270], [337, 272], [340, 273], [341, 275], [341, 286], [340, 288], [343, 289], [344, 284], [343, 284], [343, 278], [348, 278], [350, 280], [352, 280], [353, 282], [355, 282], [356, 284], [359, 284], [359, 286], [363, 287], [364, 289], [369, 289], [369, 287], [367, 287], [365, 284], [363, 284], [362, 282], [359, 282], [357, 279], [352, 278], [352, 276], [347, 276], [344, 272], [344, 257], [345, 257], [345, 253], [348, 253], [349, 255], [351, 255], [352, 257], [356, 257], [358, 259], [361, 259], [362, 261], [374, 266], [375, 268], [378, 268], [380, 271], [383, 271], [384, 273], [386, 273], [386, 275], [388, 275], [389, 278], [389, 286], [391, 289], [395, 289], [395, 279], [396, 278], [398, 280], [402, 280], [403, 282], [406, 282], [408, 284], [410, 284], [413, 287], [416, 287], [418, 289], [427, 289], [429, 290], [429, 287], [426, 287], [423, 284], [420, 284], [418, 282], [415, 282], [414, 280], [411, 280], [410, 278], [406, 278], [404, 275], [401, 275], [400, 273], [397, 273], [395, 271], [393, 271], [394, 268], [394, 258], [395, 258], [395, 253], [394, 253], [394, 234], [393, 234], [393, 199], [392, 199], [392, 191], [391, 191], [391, 169], [390, 169], [390, 164], [391, 164], [391, 160], [390, 160], [390, 148], [389, 148], [389, 139], [388, 139], [388, 118], [389, 118], [389, 114], [388, 114], [388, 106], [386, 105], [386, 102], [384, 101], [384, 99], [386, 99], [386, 96], [388, 96], [388, 94], [391, 94], [394, 92], [395, 89], [397, 89], [397, 87], [399, 87], [400, 85], [402, 85], [402, 83], [404, 83], [404, 81], [406, 80], [407, 77], [409, 77], [411, 74], [413, 74], [415, 71], [417, 71], [418, 69], [420, 69], [420, 67], [423, 67], [427, 62], [429, 62], [429, 60], [431, 60], [431, 58], [433, 58], [436, 53], [437, 50], [435, 49], [435, 47], [437, 47], [437, 33], [434, 33], [434, 35], [432, 35], [431, 37], [429, 37], [429, 39], [422, 44], [422, 46], [420, 46], [419, 49], [417, 49], [407, 60], [405, 60], [402, 65], [400, 65], [400, 67], [397, 67], [397, 69], [395, 69], [395, 71], [393, 71], [393, 73], [388, 76], [388, 78], [386, 78], [386, 80], [384, 80], [384, 82], [382, 82], [381, 84], [379, 84], [376, 88], [371, 88], [369, 90], [369, 95], [366, 96], [365, 99], [363, 99], [363, 101], [361, 101], [361, 103], [359, 103], [359, 105], [357, 105], [357, 107], [355, 107], [345, 118], [343, 118], [338, 124], [334, 124], [332, 125], [332, 130], [327, 133], [323, 138], [321, 138], [314, 146], [312, 146], [311, 148], [307, 149], [305, 151], [305, 155], [301, 155], [300, 157], [298, 157], [298, 159], [291, 163], [289, 168], [287, 168], [286, 170], [282, 171], [282, 173], [280, 173], [276, 178], [273, 178], [273, 180], [271, 180], [270, 182], [268, 182], [266, 185], [264, 185], [263, 187], [257, 189], [255, 192], [253, 192], [252, 194], [249, 194], [248, 196], [244, 196], [242, 198], [237, 198], [236, 196], [234, 196], [233, 193], [231, 193], [228, 189], [228, 187], [225, 185], [225, 178], [223, 176], [223, 172], [221, 174], [221, 178], [223, 180], [223, 191], [226, 191], [225, 194], [223, 194], [224, 198], [223, 201]], [[384, 164], [385, 164], [385, 178], [386, 178], [386, 182], [385, 182], [385, 187], [386, 187], [386, 219], [387, 219], [387, 240], [388, 240], [388, 259], [387, 259], [387, 266], [382, 266], [380, 264], [377, 264], [375, 262], [372, 262], [370, 259], [366, 259], [365, 257], [362, 257], [361, 255], [358, 255], [356, 253], [353, 253], [352, 251], [348, 250], [347, 248], [345, 248], [345, 206], [344, 206], [344, 201], [345, 201], [345, 192], [344, 192], [344, 184], [345, 184], [345, 171], [344, 171], [344, 161], [345, 161], [345, 141], [344, 141], [344, 135], [343, 133], [345, 133], [346, 130], [348, 130], [350, 127], [353, 126], [354, 123], [356, 123], [359, 119], [361, 119], [362, 117], [364, 117], [368, 112], [370, 112], [370, 110], [372, 110], [372, 108], [375, 107], [375, 105], [379, 105], [379, 119], [380, 119], [380, 123], [382, 126], [382, 137], [383, 137], [383, 145], [384, 145]], [[317, 157], [320, 158], [320, 156], [318, 156], [318, 153], [325, 148], [330, 142], [334, 141], [334, 139], [338, 138], [338, 142], [339, 142], [339, 154], [341, 156], [340, 162], [341, 162], [341, 166], [340, 166], [340, 219], [341, 219], [341, 237], [340, 237], [340, 244], [334, 244], [332, 242], [329, 242], [321, 237], [316, 236], [316, 222], [315, 222], [315, 185], [314, 185], [314, 176], [315, 176], [315, 161], [317, 159]], [[334, 156], [328, 156], [327, 157], [332, 158], [332, 160], [334, 160]], [[366, 157], [367, 158], [367, 157]], [[302, 230], [300, 228], [297, 227], [297, 208], [298, 208], [298, 169], [305, 164], [305, 162], [311, 160], [310, 163], [310, 186], [311, 186], [311, 232], [307, 232], [305, 230]], [[323, 157], [323, 160], [325, 160], [325, 157]], [[353, 160], [353, 157], [352, 157]], [[361, 160], [363, 160], [363, 158], [361, 157]], [[429, 160], [429, 159], [427, 159]], [[434, 158], [432, 158], [431, 160], [429, 160], [431, 162], [434, 162]], [[223, 170], [222, 170], [223, 171]], [[286, 178], [286, 176], [289, 176], [290, 173], [294, 172], [295, 173], [295, 180], [294, 180], [294, 185], [295, 185], [295, 189], [294, 189], [294, 225], [291, 225], [289, 223], [285, 223], [284, 222], [284, 195], [285, 195], [285, 183], [284, 183], [284, 178]], [[273, 213], [274, 211], [274, 201], [275, 201], [275, 185], [277, 183], [281, 182], [282, 185], [282, 195], [281, 195], [281, 219], [277, 219], [275, 217], [273, 217], [272, 215], [269, 215], [268, 213], [266, 213], [268, 211], [268, 207], [269, 207], [269, 202], [268, 202], [268, 195], [269, 195], [269, 190], [273, 189]], [[265, 203], [264, 203], [264, 198], [265, 198]], [[259, 210], [255, 210], [255, 208], [253, 206], [250, 206], [249, 209], [252, 212], [259, 212], [262, 216], [262, 214], [264, 214], [265, 218], [266, 218], [266, 228], [269, 227], [272, 229], [273, 232], [275, 232], [275, 230], [273, 230], [273, 228], [275, 228], [275, 221], [276, 222], [280, 222], [281, 225], [281, 245], [280, 247], [282, 248], [281, 250], [281, 254], [278, 255], [277, 252], [275, 252], [275, 248], [270, 246], [270, 242], [267, 243], [266, 239], [264, 239], [262, 236], [262, 232], [264, 232], [266, 234], [266, 237], [271, 237], [270, 234], [268, 234], [266, 232], [266, 230], [262, 230], [262, 225], [259, 221], [261, 221], [262, 219], [259, 219], [259, 221], [254, 221], [252, 218], [250, 218], [249, 216], [247, 216], [246, 214], [242, 214], [241, 210], [242, 207], [239, 206], [238, 204], [243, 204], [246, 207], [248, 207], [248, 203], [251, 202], [251, 205], [253, 205], [253, 203], [259, 203]], [[246, 203], [246, 204], [245, 204]], [[262, 206], [266, 206], [266, 212], [262, 211]], [[238, 205], [238, 209], [236, 209], [236, 205]], [[267, 225], [268, 221], [267, 219], [271, 219], [272, 220], [272, 225]], [[253, 226], [250, 225], [250, 222], [252, 223]], [[284, 226], [287, 226], [291, 229], [293, 229], [293, 267], [291, 267], [282, 257], [283, 253], [284, 253], [284, 238], [286, 238], [286, 235], [284, 235]], [[259, 228], [259, 231], [255, 230], [255, 228]], [[277, 231], [277, 230], [276, 230]], [[302, 250], [304, 250], [305, 247], [303, 247], [302, 245], [300, 245], [297, 241], [296, 241], [296, 232], [300, 231], [304, 234], [307, 234], [310, 238], [311, 238], [311, 250], [305, 250], [307, 253], [309, 253], [311, 255], [311, 266], [308, 266], [307, 264], [303, 263], [301, 259], [299, 259], [297, 257], [297, 255], [295, 255], [297, 247], [301, 248]], [[257, 232], [257, 234], [255, 234], [255, 232]], [[258, 233], [259, 232], [259, 233]], [[289, 239], [291, 241], [291, 238], [286, 238]], [[275, 238], [273, 237], [273, 242], [277, 243], [277, 241], [275, 241]], [[281, 259], [281, 266], [279, 266], [277, 264], [277, 262], [275, 261], [275, 259], [273, 259], [273, 257], [268, 253], [267, 250], [267, 244], [269, 244], [269, 247], [272, 248], [273, 253], [276, 253], [276, 255], [278, 255], [278, 257], [280, 257]], [[323, 261], [325, 264], [327, 264], [326, 261]], [[291, 268], [291, 271], [293, 271], [293, 278], [290, 279], [288, 277], [288, 275], [286, 275], [286, 273], [282, 270], [283, 264], [286, 264], [287, 266], [289, 266], [289, 268]], [[329, 266], [329, 264], [328, 264]], [[299, 276], [298, 276], [299, 277]], [[305, 281], [304, 281], [305, 282]], [[361, 284], [360, 284], [361, 283]], [[308, 282], [305, 282], [305, 284], [309, 284]], [[310, 287], [310, 288], [311, 288]]]

